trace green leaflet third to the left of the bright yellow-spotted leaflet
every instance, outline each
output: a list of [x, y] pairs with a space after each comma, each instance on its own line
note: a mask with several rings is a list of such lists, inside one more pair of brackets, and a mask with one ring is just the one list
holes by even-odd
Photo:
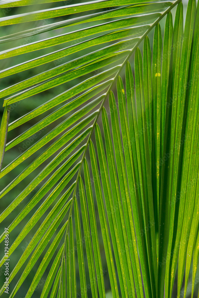
[[[130, 134], [132, 158], [133, 158], [134, 171], [135, 171], [134, 187], [137, 195], [136, 202], [139, 208], [138, 209], [139, 221], [137, 222], [137, 224], [135, 224], [135, 232], [136, 232], [136, 238], [138, 241], [138, 251], [139, 251], [139, 259], [138, 257], [136, 257], [136, 267], [139, 272], [139, 260], [140, 260], [142, 278], [144, 281], [145, 295], [146, 297], [149, 297], [151, 295], [151, 285], [150, 285], [149, 268], [148, 268], [148, 262], [147, 262], [144, 219], [143, 219], [143, 213], [141, 212], [142, 179], [141, 179], [141, 172], [140, 172], [141, 171], [140, 145], [139, 145], [139, 139], [138, 139], [140, 132], [138, 131], [137, 111], [136, 111], [136, 104], [135, 104], [134, 78], [133, 78], [132, 68], [130, 66], [130, 63], [127, 63], [127, 66], [126, 66], [126, 92], [127, 92], [127, 110], [128, 110], [128, 120], [129, 120], [129, 134]], [[134, 220], [135, 220], [136, 218], [135, 201], [133, 201], [132, 207], [133, 207], [132, 211], [133, 211]], [[135, 245], [135, 240], [133, 241], [133, 243], [134, 243], [134, 247], [136, 248], [135, 249], [135, 252], [136, 252], [137, 247]], [[136, 252], [135, 256], [137, 255], [137, 253], [138, 252]], [[139, 279], [140, 278], [141, 276], [139, 276]]]

